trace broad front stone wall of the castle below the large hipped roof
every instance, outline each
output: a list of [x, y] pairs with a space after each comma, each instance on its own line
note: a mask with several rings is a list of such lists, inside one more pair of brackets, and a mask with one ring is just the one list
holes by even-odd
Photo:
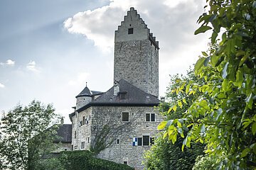
[[[129, 122], [122, 122], [122, 112], [129, 113]], [[155, 113], [155, 121], [146, 122], [146, 113]], [[93, 107], [92, 138], [97, 133], [93, 129], [99, 125], [110, 125], [112, 127], [110, 137], [114, 137], [112, 145], [100, 152], [98, 157], [120, 164], [127, 162], [129, 166], [143, 169], [142, 157], [144, 151], [150, 149], [150, 146], [133, 146], [133, 139], [134, 137], [143, 137], [143, 135], [154, 137], [157, 133], [157, 125], [161, 120], [161, 115], [153, 107]], [[119, 140], [119, 144], [117, 140]]]

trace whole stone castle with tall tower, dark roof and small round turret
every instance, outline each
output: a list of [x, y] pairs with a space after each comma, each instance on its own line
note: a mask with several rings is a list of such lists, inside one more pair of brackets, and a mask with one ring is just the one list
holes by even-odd
[[143, 169], [162, 118], [159, 105], [159, 42], [134, 8], [114, 35], [114, 85], [105, 93], [85, 86], [76, 96], [72, 150]]

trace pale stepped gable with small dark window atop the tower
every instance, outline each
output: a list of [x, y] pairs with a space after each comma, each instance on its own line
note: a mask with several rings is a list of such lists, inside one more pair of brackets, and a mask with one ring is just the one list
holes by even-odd
[[[122, 21], [121, 25], [118, 26], [117, 30], [115, 30], [115, 42], [127, 40], [127, 36], [125, 38], [120, 38], [118, 35], [118, 33], [122, 34], [124, 31], [126, 31], [127, 28], [134, 28], [134, 36], [129, 36], [132, 38], [131, 40], [149, 39], [150, 42], [159, 50], [159, 41], [156, 41], [156, 37], [154, 37], [153, 33], [150, 33], [150, 29], [147, 28], [146, 23], [137, 13], [137, 10], [135, 10], [134, 7], [131, 7], [130, 10], [127, 11], [127, 16], [124, 16], [124, 21]], [[139, 33], [139, 36], [137, 33]]]

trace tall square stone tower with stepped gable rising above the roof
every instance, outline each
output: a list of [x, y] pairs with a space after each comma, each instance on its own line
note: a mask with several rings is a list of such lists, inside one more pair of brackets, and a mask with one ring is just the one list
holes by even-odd
[[159, 96], [159, 42], [134, 8], [114, 34], [114, 81], [120, 79]]

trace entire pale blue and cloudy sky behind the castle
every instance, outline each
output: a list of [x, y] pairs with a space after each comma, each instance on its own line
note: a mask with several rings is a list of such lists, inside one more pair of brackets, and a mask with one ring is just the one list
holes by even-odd
[[0, 112], [33, 99], [56, 113], [73, 112], [87, 86], [113, 85], [114, 30], [134, 7], [159, 41], [159, 91], [170, 76], [186, 74], [209, 34], [194, 35], [203, 0], [1, 0]]

